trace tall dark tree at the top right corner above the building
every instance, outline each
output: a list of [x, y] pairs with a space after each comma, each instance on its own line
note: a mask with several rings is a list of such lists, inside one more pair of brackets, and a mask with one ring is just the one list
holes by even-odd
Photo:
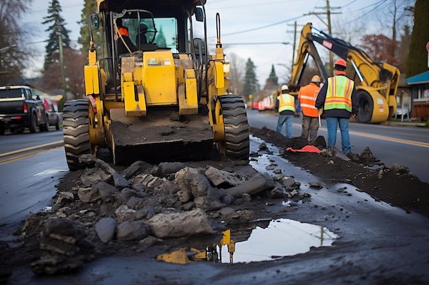
[[428, 51], [426, 43], [429, 41], [429, 1], [417, 0], [414, 7], [414, 26], [411, 33], [410, 52], [406, 58], [406, 77], [412, 77], [428, 71]]

